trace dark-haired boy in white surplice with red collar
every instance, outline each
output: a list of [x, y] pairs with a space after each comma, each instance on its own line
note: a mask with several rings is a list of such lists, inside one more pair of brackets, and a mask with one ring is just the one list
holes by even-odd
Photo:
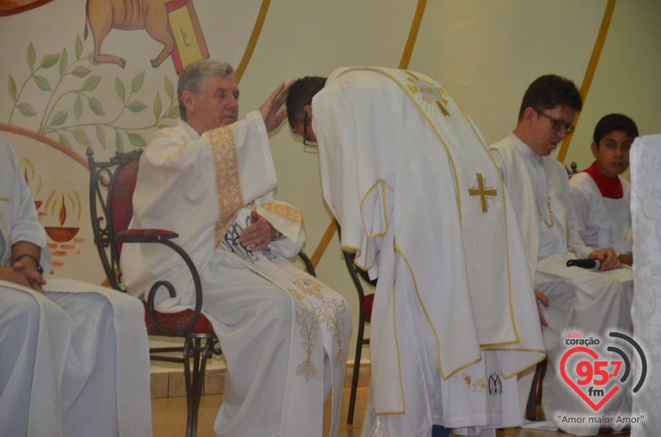
[[631, 118], [602, 117], [592, 137], [595, 161], [569, 180], [578, 235], [588, 246], [612, 248], [620, 262], [629, 266], [633, 264], [631, 184], [620, 174], [629, 168], [629, 150], [637, 136]]

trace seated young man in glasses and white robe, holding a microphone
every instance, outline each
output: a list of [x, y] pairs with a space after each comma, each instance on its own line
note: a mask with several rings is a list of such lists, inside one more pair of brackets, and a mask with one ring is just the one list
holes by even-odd
[[[613, 330], [631, 334], [633, 283], [631, 270], [620, 268], [612, 248], [589, 247], [580, 239], [567, 171], [549, 156], [574, 130], [571, 122], [582, 105], [574, 83], [553, 74], [541, 76], [525, 92], [514, 131], [490, 148], [512, 195], [535, 294], [546, 307], [541, 313], [551, 365], [543, 383], [545, 416], [563, 431], [589, 436], [598, 433], [600, 423], [578, 423], [576, 418], [629, 414], [631, 390], [620, 390], [598, 412], [589, 407], [560, 372], [571, 347], [567, 336], [578, 333], [603, 343]], [[577, 257], [599, 259], [600, 270], [568, 267], [567, 261]]]

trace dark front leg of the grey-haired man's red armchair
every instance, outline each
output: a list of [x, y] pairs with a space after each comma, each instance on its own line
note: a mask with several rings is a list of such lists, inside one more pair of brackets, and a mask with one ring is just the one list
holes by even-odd
[[[213, 345], [213, 341], [209, 339], [205, 341], [204, 348], [202, 348], [201, 339], [186, 339], [184, 347], [184, 375], [188, 404], [186, 437], [195, 437], [198, 432], [198, 412], [202, 387], [204, 387], [204, 370], [207, 367], [207, 358], [211, 355], [211, 345]], [[190, 357], [193, 358], [192, 372]]]

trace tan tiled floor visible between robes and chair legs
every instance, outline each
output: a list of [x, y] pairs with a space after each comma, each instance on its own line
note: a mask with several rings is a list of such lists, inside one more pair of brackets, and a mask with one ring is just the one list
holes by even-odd
[[[346, 414], [349, 404], [349, 389], [344, 389], [342, 398], [342, 416], [339, 422], [339, 437], [360, 436], [362, 418], [367, 405], [367, 387], [358, 388], [356, 400], [355, 419], [353, 425], [346, 423]], [[213, 434], [213, 420], [216, 418], [218, 408], [222, 403], [222, 394], [202, 396], [200, 403], [200, 416], [198, 418], [198, 437], [215, 437]], [[154, 424], [154, 437], [183, 437], [186, 435], [186, 398], [160, 398], [151, 400], [151, 418]], [[328, 432], [330, 420], [330, 403], [324, 409], [324, 435]], [[568, 436], [562, 431], [542, 431], [534, 429], [509, 428], [496, 432], [496, 437], [525, 436], [525, 437], [561, 437]], [[611, 434], [612, 436], [613, 434]], [[618, 434], [621, 435], [621, 434]], [[604, 437], [608, 436], [605, 434]]]

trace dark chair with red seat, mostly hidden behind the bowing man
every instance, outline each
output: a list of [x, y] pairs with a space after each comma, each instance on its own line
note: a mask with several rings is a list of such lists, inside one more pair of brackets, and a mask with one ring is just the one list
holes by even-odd
[[[339, 226], [339, 222], [335, 221], [337, 224], [337, 236], [342, 238], [342, 228]], [[361, 279], [370, 284], [370, 286], [375, 287], [377, 285], [376, 279], [370, 279], [365, 270], [356, 268], [356, 265], [353, 264], [353, 259], [355, 254], [342, 251], [344, 256], [344, 263], [346, 264], [346, 269], [349, 271], [349, 275], [353, 280], [353, 284], [356, 286], [356, 291], [358, 292], [358, 339], [356, 341], [356, 356], [353, 361], [353, 377], [351, 378], [351, 393], [349, 395], [349, 411], [346, 418], [346, 423], [353, 423], [353, 412], [356, 407], [356, 394], [358, 390], [358, 374], [360, 370], [360, 356], [362, 354], [363, 346], [370, 345], [370, 339], [365, 339], [365, 323], [370, 323], [372, 319], [372, 303], [374, 301], [374, 293], [365, 295], [363, 290], [363, 284]]]

